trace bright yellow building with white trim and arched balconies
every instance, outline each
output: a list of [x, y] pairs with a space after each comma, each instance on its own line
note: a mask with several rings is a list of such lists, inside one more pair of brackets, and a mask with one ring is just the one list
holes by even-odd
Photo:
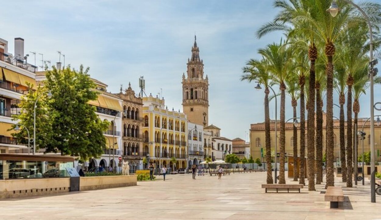
[[[165, 108], [164, 99], [143, 97], [143, 152], [155, 167], [186, 168], [187, 117]], [[175, 164], [171, 158], [176, 158]]]

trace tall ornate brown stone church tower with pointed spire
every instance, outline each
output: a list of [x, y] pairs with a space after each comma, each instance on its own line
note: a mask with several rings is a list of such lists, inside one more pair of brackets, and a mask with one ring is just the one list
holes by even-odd
[[192, 58], [188, 58], [187, 75], [182, 74], [182, 111], [190, 122], [208, 126], [208, 75], [204, 78], [204, 64], [199, 56], [196, 36]]

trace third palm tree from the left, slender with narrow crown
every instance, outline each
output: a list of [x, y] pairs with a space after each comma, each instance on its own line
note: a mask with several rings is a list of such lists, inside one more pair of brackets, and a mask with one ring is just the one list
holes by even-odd
[[[294, 65], [290, 65], [290, 72], [295, 70], [296, 63]], [[287, 93], [291, 97], [291, 106], [293, 108], [293, 118], [296, 120], [296, 106], [298, 105], [299, 99], [299, 83], [298, 83], [298, 75], [291, 75], [286, 79], [287, 85]], [[294, 181], [298, 181], [298, 128], [293, 126], [293, 159], [294, 159]]]

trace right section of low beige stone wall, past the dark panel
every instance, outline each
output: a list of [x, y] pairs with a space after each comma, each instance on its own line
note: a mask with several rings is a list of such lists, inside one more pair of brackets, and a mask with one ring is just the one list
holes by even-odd
[[136, 175], [81, 177], [80, 191], [136, 186]]

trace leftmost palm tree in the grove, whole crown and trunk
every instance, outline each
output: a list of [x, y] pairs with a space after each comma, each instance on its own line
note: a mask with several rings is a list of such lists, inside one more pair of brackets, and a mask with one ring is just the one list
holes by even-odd
[[247, 62], [246, 67], [243, 67], [243, 73], [241, 80], [247, 80], [249, 82], [256, 80], [263, 84], [265, 87], [264, 93], [264, 116], [265, 116], [265, 139], [266, 139], [266, 166], [267, 166], [267, 178], [266, 183], [271, 184], [274, 182], [272, 179], [271, 171], [271, 139], [270, 139], [270, 114], [269, 114], [269, 83], [271, 76], [267, 70], [269, 62], [266, 59], [255, 60], [251, 59]]

